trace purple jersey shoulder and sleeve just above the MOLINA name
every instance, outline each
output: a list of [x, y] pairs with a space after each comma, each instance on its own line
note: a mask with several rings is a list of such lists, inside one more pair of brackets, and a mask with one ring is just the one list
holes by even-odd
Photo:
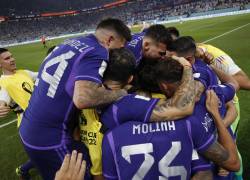
[[101, 121], [108, 129], [128, 121], [148, 122], [158, 100], [129, 94], [103, 110]]

